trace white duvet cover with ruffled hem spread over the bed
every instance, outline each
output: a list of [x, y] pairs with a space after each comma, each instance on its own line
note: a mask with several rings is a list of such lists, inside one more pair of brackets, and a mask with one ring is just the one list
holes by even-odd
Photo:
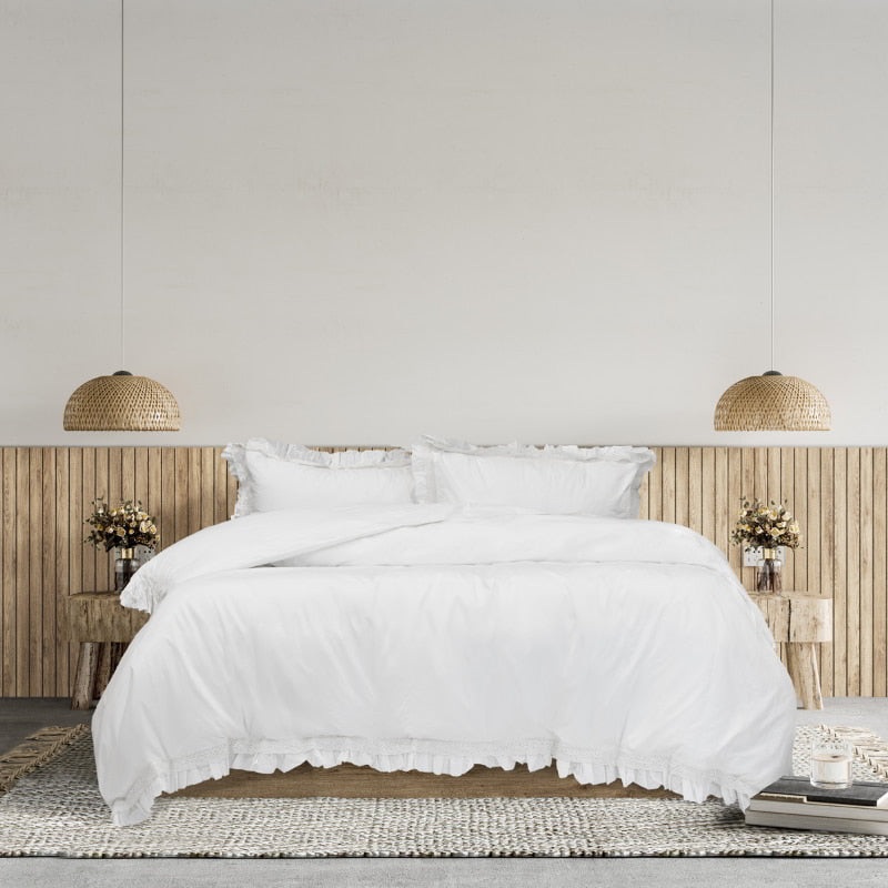
[[[291, 566], [256, 566], [269, 564]], [[149, 562], [93, 719], [114, 821], [231, 768], [556, 763], [746, 805], [795, 694], [718, 549], [647, 521], [390, 506], [251, 515]]]

